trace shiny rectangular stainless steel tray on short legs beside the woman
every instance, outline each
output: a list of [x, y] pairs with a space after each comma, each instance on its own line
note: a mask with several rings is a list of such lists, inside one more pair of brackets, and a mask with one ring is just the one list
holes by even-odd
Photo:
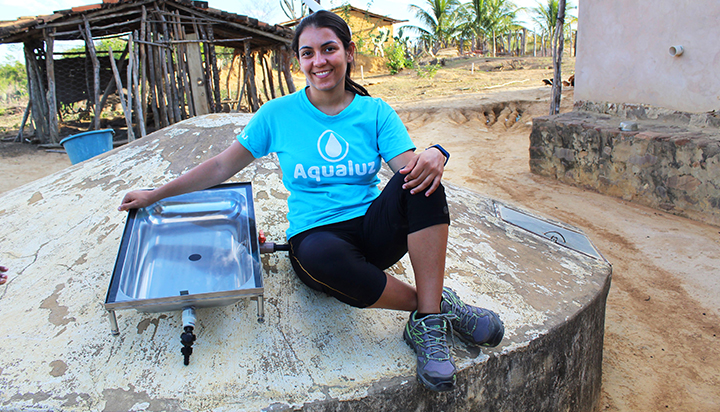
[[166, 312], [258, 297], [263, 279], [250, 183], [228, 183], [131, 210], [105, 308]]

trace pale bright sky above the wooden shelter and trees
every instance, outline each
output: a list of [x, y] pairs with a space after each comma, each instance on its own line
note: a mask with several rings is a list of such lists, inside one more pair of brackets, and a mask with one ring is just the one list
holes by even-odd
[[[22, 16], [37, 16], [52, 14], [56, 10], [65, 10], [72, 7], [87, 4], [100, 3], [102, 0], [0, 0], [0, 7], [3, 13], [0, 20], [15, 20]], [[538, 0], [514, 0], [518, 7], [536, 7]], [[298, 2], [296, 0], [296, 2]], [[337, 7], [344, 4], [346, 0], [322, 0], [320, 3], [327, 8]], [[280, 23], [288, 18], [280, 9], [280, 0], [208, 0], [210, 7], [224, 10], [230, 13], [243, 14], [256, 17], [266, 23]], [[575, 2], [577, 3], [577, 1]], [[390, 16], [398, 20], [409, 20], [408, 23], [418, 25], [413, 20], [413, 15], [408, 11], [410, 4], [416, 4], [425, 8], [426, 0], [351, 0], [350, 4], [373, 13]], [[527, 14], [520, 13], [521, 21], [529, 22]], [[57, 44], [58, 49], [62, 45]], [[0, 64], [12, 60], [24, 62], [22, 57], [22, 44], [0, 44]]]

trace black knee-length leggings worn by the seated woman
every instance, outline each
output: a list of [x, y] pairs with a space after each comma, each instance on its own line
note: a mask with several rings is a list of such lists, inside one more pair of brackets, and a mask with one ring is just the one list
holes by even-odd
[[383, 270], [407, 253], [408, 234], [450, 224], [445, 188], [411, 195], [404, 178], [395, 173], [365, 216], [290, 238], [290, 260], [306, 285], [348, 305], [371, 306], [385, 290]]

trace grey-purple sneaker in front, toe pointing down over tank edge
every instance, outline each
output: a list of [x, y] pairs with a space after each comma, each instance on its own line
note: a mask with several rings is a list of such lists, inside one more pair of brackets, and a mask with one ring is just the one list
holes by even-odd
[[417, 376], [425, 387], [433, 391], [449, 391], [455, 387], [455, 363], [447, 344], [446, 315], [427, 315], [416, 319], [410, 314], [403, 338], [417, 355]]

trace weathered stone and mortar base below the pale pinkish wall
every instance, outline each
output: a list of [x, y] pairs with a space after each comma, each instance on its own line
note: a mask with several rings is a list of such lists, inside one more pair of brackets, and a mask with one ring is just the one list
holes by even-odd
[[[637, 123], [638, 131], [621, 130], [627, 119]], [[530, 170], [720, 225], [720, 208], [712, 200], [720, 191], [720, 125], [715, 119], [584, 102], [573, 112], [533, 120]]]

